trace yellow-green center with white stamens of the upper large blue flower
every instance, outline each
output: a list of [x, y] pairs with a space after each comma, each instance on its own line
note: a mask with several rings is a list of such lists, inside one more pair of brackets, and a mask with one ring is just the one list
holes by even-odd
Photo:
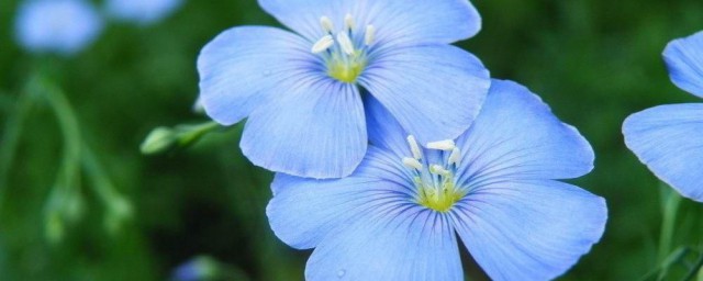
[[348, 13], [341, 31], [334, 29], [327, 16], [320, 18], [320, 25], [326, 35], [315, 42], [311, 52], [324, 59], [330, 77], [342, 82], [356, 82], [366, 67], [376, 29], [369, 24], [364, 30], [357, 30], [354, 18]]

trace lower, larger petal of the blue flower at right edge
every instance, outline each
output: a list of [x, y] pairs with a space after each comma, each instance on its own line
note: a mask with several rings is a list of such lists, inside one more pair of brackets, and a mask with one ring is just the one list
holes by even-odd
[[657, 177], [703, 202], [703, 104], [660, 105], [625, 120], [625, 144]]

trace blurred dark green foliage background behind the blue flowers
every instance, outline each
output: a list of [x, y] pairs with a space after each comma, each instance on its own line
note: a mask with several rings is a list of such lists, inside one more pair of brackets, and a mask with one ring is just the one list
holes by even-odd
[[[85, 212], [65, 222], [62, 239], [47, 236], [47, 201], [64, 144], [55, 115], [45, 102], [35, 102], [23, 110], [14, 161], [0, 186], [0, 280], [168, 280], [198, 256], [212, 257], [199, 265], [224, 272], [224, 280], [302, 280], [310, 251], [287, 247], [269, 229], [264, 209], [271, 175], [243, 158], [241, 125], [189, 149], [140, 153], [156, 126], [207, 121], [191, 110], [196, 57], [231, 26], [277, 25], [255, 0], [191, 0], [152, 26], [111, 23], [87, 50], [68, 59], [37, 59], [13, 44], [18, 4], [0, 1], [0, 139], [5, 139], [0, 147], [18, 128], [12, 120], [36, 65], [51, 65], [75, 109], [83, 145], [130, 200], [133, 215], [105, 227], [109, 209], [83, 175], [78, 194]], [[596, 151], [595, 170], [574, 182], [607, 200], [610, 221], [601, 243], [561, 280], [645, 277], [668, 254], [658, 250], [667, 189], [625, 148], [621, 124], [656, 104], [695, 101], [669, 81], [660, 54], [670, 40], [703, 30], [703, 1], [475, 4], [483, 30], [459, 45], [481, 58], [493, 77], [540, 94]], [[671, 251], [680, 245], [700, 249], [702, 213], [700, 205], [682, 201]], [[692, 252], [685, 260], [695, 258]], [[466, 263], [481, 280], [476, 266]], [[685, 266], [671, 270], [667, 279], [678, 280]]]

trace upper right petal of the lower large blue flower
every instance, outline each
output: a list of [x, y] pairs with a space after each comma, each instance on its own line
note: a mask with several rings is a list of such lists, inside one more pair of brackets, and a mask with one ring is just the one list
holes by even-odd
[[593, 149], [572, 126], [523, 86], [493, 80], [481, 114], [457, 139], [462, 149], [458, 182], [506, 178], [568, 179], [593, 168]]

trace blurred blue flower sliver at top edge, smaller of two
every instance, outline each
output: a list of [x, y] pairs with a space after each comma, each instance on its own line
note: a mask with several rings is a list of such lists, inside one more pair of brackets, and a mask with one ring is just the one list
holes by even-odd
[[107, 9], [118, 20], [148, 25], [170, 15], [185, 0], [108, 0]]

